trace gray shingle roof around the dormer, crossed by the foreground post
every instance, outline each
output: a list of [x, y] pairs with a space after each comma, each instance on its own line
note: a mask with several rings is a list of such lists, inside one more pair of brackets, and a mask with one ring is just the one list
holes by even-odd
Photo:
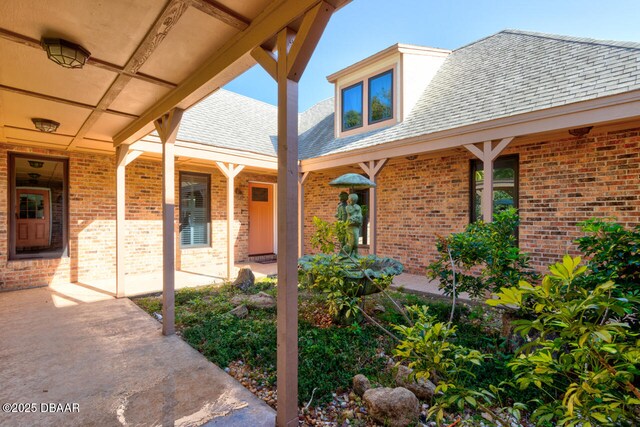
[[[300, 158], [384, 144], [640, 89], [640, 43], [504, 30], [453, 51], [404, 122], [334, 138], [334, 102], [299, 115]], [[219, 90], [178, 138], [275, 156], [277, 108]]]

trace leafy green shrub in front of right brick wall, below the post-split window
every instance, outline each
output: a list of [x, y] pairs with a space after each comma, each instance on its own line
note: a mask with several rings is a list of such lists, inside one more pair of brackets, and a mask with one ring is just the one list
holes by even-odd
[[438, 258], [427, 267], [427, 276], [437, 279], [446, 295], [452, 295], [455, 280], [456, 293], [475, 298], [535, 279], [529, 257], [517, 245], [518, 223], [516, 210], [505, 209], [494, 214], [493, 222], [476, 221], [462, 233], [439, 238]]

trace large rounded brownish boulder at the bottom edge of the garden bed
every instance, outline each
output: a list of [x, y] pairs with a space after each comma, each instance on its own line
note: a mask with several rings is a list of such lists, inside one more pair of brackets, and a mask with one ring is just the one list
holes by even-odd
[[405, 427], [415, 423], [420, 415], [418, 399], [404, 387], [372, 388], [363, 397], [369, 415], [383, 425]]

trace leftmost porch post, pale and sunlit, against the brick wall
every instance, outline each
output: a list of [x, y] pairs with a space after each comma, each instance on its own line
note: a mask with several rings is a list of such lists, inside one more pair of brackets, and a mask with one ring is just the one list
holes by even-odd
[[125, 292], [126, 262], [126, 209], [125, 209], [125, 172], [127, 166], [128, 145], [116, 148], [116, 298], [123, 298]]

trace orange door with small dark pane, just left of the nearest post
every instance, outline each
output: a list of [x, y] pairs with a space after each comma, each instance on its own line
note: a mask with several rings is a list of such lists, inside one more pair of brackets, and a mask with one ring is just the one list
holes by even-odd
[[249, 255], [273, 253], [273, 185], [249, 183]]

